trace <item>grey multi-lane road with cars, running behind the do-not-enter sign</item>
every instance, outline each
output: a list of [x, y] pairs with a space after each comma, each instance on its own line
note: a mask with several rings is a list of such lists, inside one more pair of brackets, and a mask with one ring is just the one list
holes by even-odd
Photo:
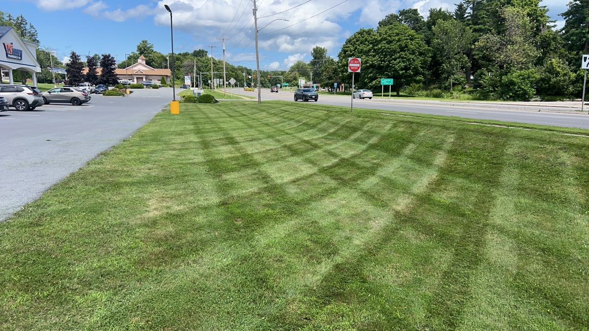
[[[241, 89], [233, 89], [231, 92], [257, 96], [257, 92], [246, 92]], [[289, 91], [270, 93], [270, 90], [262, 90], [263, 100], [287, 100], [293, 101], [293, 94]], [[294, 101], [293, 101], [294, 102]], [[299, 101], [302, 102], [302, 101]], [[315, 102], [309, 102], [314, 104]], [[343, 95], [319, 95], [317, 104], [350, 106], [350, 97]], [[418, 112], [421, 114], [434, 114], [446, 116], [458, 116], [475, 118], [478, 120], [497, 120], [530, 124], [555, 125], [560, 127], [589, 128], [589, 115], [567, 114], [552, 111], [577, 110], [581, 107], [554, 107], [554, 103], [540, 105], [538, 103], [524, 105], [521, 102], [514, 104], [479, 103], [479, 102], [451, 102], [451, 101], [417, 101], [417, 100], [354, 100], [354, 107], [371, 108], [380, 110], [395, 110], [406, 112]], [[562, 105], [571, 105], [570, 103]]]

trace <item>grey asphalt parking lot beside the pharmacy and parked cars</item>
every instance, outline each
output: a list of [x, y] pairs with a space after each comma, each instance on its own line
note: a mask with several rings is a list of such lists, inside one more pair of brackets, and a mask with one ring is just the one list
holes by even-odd
[[0, 221], [147, 123], [172, 89], [0, 112]]

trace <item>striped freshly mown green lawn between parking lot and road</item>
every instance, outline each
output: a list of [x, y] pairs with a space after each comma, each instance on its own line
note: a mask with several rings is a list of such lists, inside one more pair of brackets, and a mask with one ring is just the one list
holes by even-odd
[[0, 224], [0, 327], [584, 329], [588, 143], [183, 104]]

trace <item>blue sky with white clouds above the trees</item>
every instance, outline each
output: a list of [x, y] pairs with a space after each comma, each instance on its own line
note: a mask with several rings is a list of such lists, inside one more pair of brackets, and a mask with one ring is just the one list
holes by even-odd
[[[259, 16], [285, 11], [307, 0], [258, 0]], [[311, 0], [283, 14], [260, 18], [260, 66], [287, 69], [299, 59], [310, 59], [315, 45], [326, 47], [336, 57], [345, 39], [359, 28], [376, 27], [390, 12], [418, 8], [426, 15], [429, 8], [454, 10], [458, 0]], [[545, 0], [549, 15], [562, 26], [558, 16], [567, 0]], [[135, 50], [141, 39], [154, 44], [157, 51], [170, 51], [170, 16], [174, 12], [174, 51], [207, 49], [215, 45], [213, 56], [221, 58], [221, 35], [229, 37], [226, 57], [234, 65], [255, 67], [252, 2], [250, 0], [4, 0], [0, 10], [24, 15], [39, 32], [41, 47], [51, 48], [60, 59], [70, 51], [78, 54], [110, 53], [121, 61]], [[306, 21], [303, 21], [307, 19]], [[300, 22], [303, 21], [303, 22]], [[294, 23], [299, 24], [288, 27]], [[283, 29], [284, 28], [284, 29]], [[280, 31], [276, 31], [281, 29]]]

